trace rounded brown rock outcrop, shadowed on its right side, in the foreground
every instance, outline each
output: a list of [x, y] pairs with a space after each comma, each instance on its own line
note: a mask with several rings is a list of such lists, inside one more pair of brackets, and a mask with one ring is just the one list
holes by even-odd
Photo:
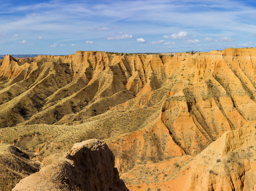
[[114, 161], [113, 153], [100, 140], [76, 143], [65, 157], [22, 179], [13, 191], [128, 191]]

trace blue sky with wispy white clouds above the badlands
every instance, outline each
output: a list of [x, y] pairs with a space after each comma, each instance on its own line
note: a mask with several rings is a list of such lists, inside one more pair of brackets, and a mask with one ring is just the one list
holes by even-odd
[[0, 0], [0, 55], [255, 46], [251, 0]]

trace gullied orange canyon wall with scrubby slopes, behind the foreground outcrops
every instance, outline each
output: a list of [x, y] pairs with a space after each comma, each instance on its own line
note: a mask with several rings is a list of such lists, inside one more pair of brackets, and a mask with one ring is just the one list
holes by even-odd
[[[254, 48], [174, 56], [77, 51], [27, 61], [6, 55], [0, 140], [43, 160], [54, 149], [103, 139], [129, 188], [170, 180], [191, 156], [255, 120], [255, 63]], [[167, 160], [168, 171], [148, 172]], [[140, 171], [147, 174], [132, 177]]]

